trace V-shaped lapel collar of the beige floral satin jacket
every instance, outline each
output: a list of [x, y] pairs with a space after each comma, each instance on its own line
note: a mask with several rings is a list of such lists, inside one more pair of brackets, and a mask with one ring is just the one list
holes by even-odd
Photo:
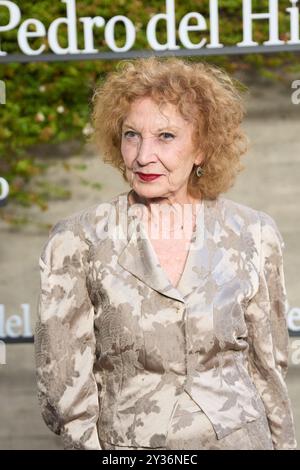
[[[203, 199], [197, 206], [196, 229], [193, 233], [184, 270], [177, 286], [173, 286], [161, 267], [158, 256], [141, 218], [128, 205], [128, 193], [119, 198], [118, 212], [127, 219], [127, 240], [119, 253], [118, 263], [150, 288], [180, 302], [185, 302], [199, 287], [200, 276], [207, 274], [208, 239], [217, 230], [218, 199]], [[125, 204], [124, 204], [125, 203]], [[124, 219], [124, 212], [127, 218]], [[121, 220], [121, 219], [119, 219]], [[126, 233], [126, 227], [125, 227]]]

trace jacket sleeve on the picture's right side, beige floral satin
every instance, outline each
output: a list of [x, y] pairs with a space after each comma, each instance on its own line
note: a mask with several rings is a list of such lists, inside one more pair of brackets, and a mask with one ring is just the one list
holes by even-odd
[[285, 383], [288, 368], [288, 301], [283, 271], [284, 241], [275, 221], [259, 211], [259, 287], [246, 308], [249, 373], [264, 404], [274, 449], [297, 447]]

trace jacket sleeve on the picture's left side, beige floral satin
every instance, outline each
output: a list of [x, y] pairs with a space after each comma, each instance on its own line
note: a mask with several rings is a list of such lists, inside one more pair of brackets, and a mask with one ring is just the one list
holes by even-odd
[[101, 449], [93, 374], [94, 309], [86, 288], [86, 242], [58, 222], [39, 258], [35, 328], [38, 398], [65, 449]]

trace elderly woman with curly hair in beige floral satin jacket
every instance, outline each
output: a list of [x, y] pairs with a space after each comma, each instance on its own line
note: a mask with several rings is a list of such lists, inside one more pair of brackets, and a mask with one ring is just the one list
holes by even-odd
[[151, 57], [93, 104], [130, 190], [58, 221], [40, 256], [45, 422], [66, 449], [294, 449], [284, 242], [221, 196], [248, 143], [236, 83]]

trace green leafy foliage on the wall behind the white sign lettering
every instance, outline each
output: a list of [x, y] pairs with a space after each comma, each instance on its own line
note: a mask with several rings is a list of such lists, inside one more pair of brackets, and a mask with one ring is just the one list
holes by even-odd
[[[46, 29], [58, 16], [65, 15], [65, 4], [59, 0], [17, 2], [22, 10], [22, 21], [26, 18], [40, 19]], [[188, 12], [198, 11], [207, 19], [209, 27], [209, 1], [177, 0], [176, 23]], [[254, 0], [253, 9], [267, 11], [267, 0]], [[288, 0], [280, 2], [280, 37], [289, 38], [289, 15], [286, 8]], [[233, 45], [242, 40], [242, 0], [220, 0], [220, 40], [225, 45]], [[78, 16], [103, 16], [106, 21], [112, 16], [122, 14], [132, 20], [136, 26], [137, 37], [134, 49], [147, 46], [146, 24], [151, 15], [163, 13], [165, 2], [153, 0], [77, 0]], [[1, 9], [1, 23], [8, 20], [7, 9]], [[166, 39], [165, 23], [158, 23], [158, 40]], [[177, 28], [178, 29], [178, 28]], [[205, 35], [205, 36], [203, 36]], [[199, 42], [202, 37], [209, 38], [209, 31], [190, 33], [192, 42]], [[94, 29], [95, 47], [108, 51], [103, 28]], [[268, 39], [268, 21], [255, 23], [254, 40], [262, 43]], [[59, 41], [67, 45], [66, 29], [59, 30]], [[124, 28], [116, 29], [116, 42], [124, 44]], [[40, 38], [30, 39], [33, 48], [42, 44]], [[47, 41], [45, 53], [49, 53]], [[177, 44], [180, 40], [177, 33]], [[78, 22], [78, 45], [83, 47], [82, 25]], [[1, 35], [1, 47], [9, 53], [20, 52], [17, 45], [17, 30]], [[221, 51], [220, 51], [221, 53]], [[191, 60], [202, 60], [193, 57]], [[296, 53], [272, 55], [248, 54], [240, 56], [214, 56], [206, 61], [218, 64], [235, 73], [239, 70], [257, 71], [270, 79], [282, 79], [286, 72], [300, 70]], [[69, 194], [44, 184], [33, 190], [30, 181], [46, 168], [37, 162], [30, 147], [35, 144], [60, 143], [69, 139], [84, 142], [85, 126], [89, 122], [90, 100], [98, 80], [114, 69], [114, 60], [91, 60], [78, 62], [26, 63], [0, 65], [0, 80], [6, 84], [7, 103], [0, 106], [0, 175], [10, 184], [10, 201], [23, 206], [37, 204], [47, 208], [47, 200], [54, 197], [68, 197]], [[83, 182], [84, 184], [84, 182]], [[99, 186], [95, 187], [99, 189]]]

